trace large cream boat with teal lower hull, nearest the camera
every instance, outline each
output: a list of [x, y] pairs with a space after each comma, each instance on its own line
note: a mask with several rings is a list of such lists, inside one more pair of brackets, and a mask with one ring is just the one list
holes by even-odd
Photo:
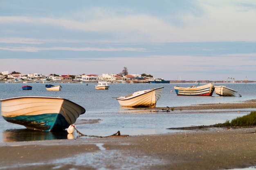
[[0, 99], [2, 117], [33, 130], [64, 130], [74, 124], [85, 108], [60, 97], [13, 97]]

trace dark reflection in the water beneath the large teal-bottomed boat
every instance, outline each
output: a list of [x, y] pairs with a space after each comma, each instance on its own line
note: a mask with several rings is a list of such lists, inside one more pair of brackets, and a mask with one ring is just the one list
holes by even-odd
[[8, 129], [2, 133], [2, 142], [17, 142], [17, 141], [40, 141], [67, 139], [67, 131], [60, 132], [45, 132], [30, 129]]

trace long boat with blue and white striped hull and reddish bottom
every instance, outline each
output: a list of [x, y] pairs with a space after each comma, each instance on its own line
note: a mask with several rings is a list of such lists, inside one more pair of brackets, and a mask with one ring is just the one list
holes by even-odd
[[191, 87], [174, 86], [174, 89], [178, 96], [211, 96], [214, 91], [214, 85], [212, 83], [209, 83], [202, 86]]

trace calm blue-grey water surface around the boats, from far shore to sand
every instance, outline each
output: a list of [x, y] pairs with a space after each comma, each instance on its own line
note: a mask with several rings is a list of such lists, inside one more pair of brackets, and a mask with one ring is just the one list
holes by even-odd
[[[31, 91], [23, 91], [22, 86], [33, 86]], [[56, 85], [56, 84], [53, 84]], [[163, 86], [163, 93], [156, 107], [190, 106], [197, 104], [213, 103], [239, 103], [256, 99], [256, 83], [236, 83], [233, 89], [238, 91], [236, 97], [213, 96], [177, 96], [174, 86], [189, 87], [197, 83], [180, 84], [110, 84], [108, 90], [95, 90], [94, 85], [86, 83], [63, 83], [61, 91], [46, 91], [45, 84], [14, 84], [0, 83], [0, 98], [18, 96], [49, 96], [69, 99], [86, 109], [75, 125], [77, 130], [84, 135], [108, 136], [121, 132], [121, 135], [152, 135], [162, 133], [180, 132], [180, 130], [168, 130], [185, 126], [213, 125], [224, 123], [236, 117], [249, 114], [255, 109], [229, 109], [225, 113], [220, 110], [186, 111], [174, 110], [166, 112], [155, 109], [151, 112], [144, 109], [132, 109], [120, 107], [115, 97], [126, 96], [135, 91], [147, 90]], [[200, 85], [203, 85], [201, 83]], [[225, 85], [225, 84], [216, 84]], [[232, 87], [233, 84], [227, 84]], [[242, 97], [238, 97], [242, 95]], [[74, 138], [80, 137], [75, 134]], [[24, 126], [12, 124], [0, 117], [0, 142], [31, 141], [67, 139], [67, 132], [40, 132], [28, 130]]]

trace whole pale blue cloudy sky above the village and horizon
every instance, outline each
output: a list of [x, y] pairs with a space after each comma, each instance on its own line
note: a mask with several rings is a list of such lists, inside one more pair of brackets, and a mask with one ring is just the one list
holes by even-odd
[[255, 0], [0, 0], [0, 72], [256, 81]]

